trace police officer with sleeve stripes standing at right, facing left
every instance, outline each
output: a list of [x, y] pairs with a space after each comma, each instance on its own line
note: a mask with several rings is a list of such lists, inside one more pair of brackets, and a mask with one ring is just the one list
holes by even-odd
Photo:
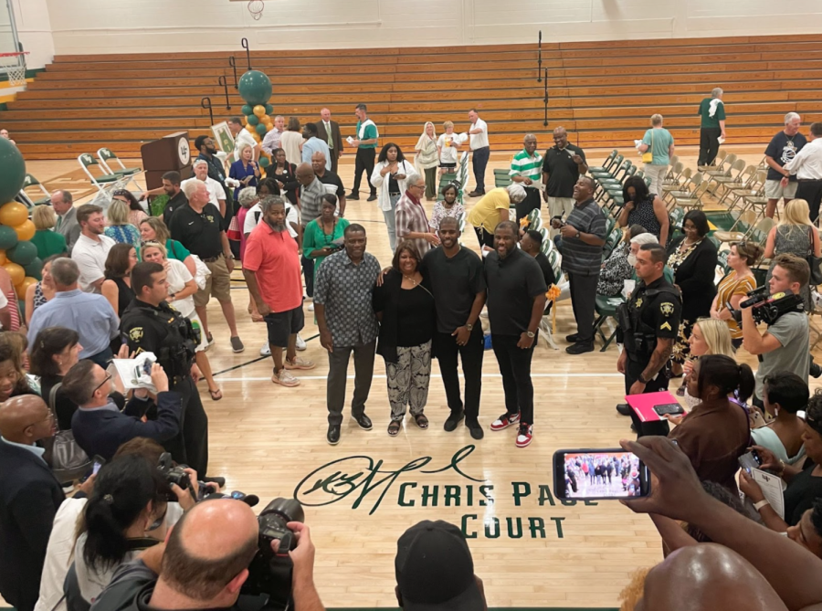
[[[668, 390], [666, 369], [680, 330], [682, 300], [680, 291], [662, 275], [666, 258], [659, 244], [639, 248], [634, 266], [639, 281], [631, 298], [617, 309], [624, 344], [617, 371], [625, 375], [626, 395]], [[617, 406], [617, 412], [632, 417], [639, 437], [669, 433], [666, 420], [641, 423], [627, 404]]]

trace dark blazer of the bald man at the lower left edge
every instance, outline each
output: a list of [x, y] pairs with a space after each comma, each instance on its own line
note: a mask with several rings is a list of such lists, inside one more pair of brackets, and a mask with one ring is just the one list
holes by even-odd
[[0, 594], [32, 611], [63, 489], [46, 462], [0, 439]]

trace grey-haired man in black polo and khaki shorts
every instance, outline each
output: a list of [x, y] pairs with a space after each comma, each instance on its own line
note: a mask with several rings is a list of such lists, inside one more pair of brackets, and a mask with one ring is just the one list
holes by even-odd
[[205, 306], [213, 295], [220, 302], [223, 316], [226, 317], [231, 331], [231, 349], [235, 353], [243, 352], [246, 347], [237, 334], [237, 320], [234, 315], [234, 304], [231, 302], [231, 271], [234, 269], [234, 258], [228, 246], [228, 237], [222, 227], [220, 211], [216, 205], [208, 203], [208, 190], [205, 183], [199, 180], [185, 184], [185, 195], [188, 205], [174, 213], [168, 227], [172, 237], [188, 248], [197, 257], [203, 259], [211, 275], [205, 279], [205, 289], [195, 293], [194, 301], [197, 315], [203, 323], [203, 332], [209, 345], [214, 338], [208, 332], [208, 319]]

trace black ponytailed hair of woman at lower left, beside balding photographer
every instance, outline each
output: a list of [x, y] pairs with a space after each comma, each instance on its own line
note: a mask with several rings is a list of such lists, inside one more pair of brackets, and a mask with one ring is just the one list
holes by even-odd
[[86, 533], [83, 560], [94, 570], [120, 564], [129, 551], [125, 532], [146, 511], [156, 509], [169, 491], [160, 471], [137, 455], [104, 465], [83, 510], [78, 534]]

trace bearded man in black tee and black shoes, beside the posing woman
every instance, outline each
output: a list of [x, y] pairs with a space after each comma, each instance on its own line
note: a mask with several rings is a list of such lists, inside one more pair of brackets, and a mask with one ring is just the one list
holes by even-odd
[[[431, 282], [437, 303], [437, 332], [434, 353], [439, 361], [442, 384], [451, 414], [443, 428], [453, 431], [465, 417], [471, 437], [481, 439], [479, 393], [482, 388], [482, 353], [485, 341], [479, 325], [479, 312], [485, 305], [485, 277], [482, 260], [469, 248], [459, 245], [457, 219], [446, 216], [439, 224], [440, 248], [429, 250], [420, 271]], [[462, 358], [465, 375], [465, 405], [459, 396], [457, 355]]]

